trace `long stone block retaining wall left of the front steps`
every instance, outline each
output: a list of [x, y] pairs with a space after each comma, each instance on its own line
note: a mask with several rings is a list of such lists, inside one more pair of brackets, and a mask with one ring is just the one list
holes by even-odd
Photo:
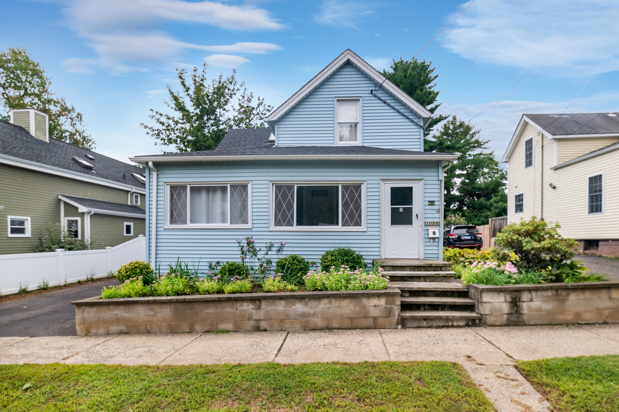
[[397, 328], [400, 291], [132, 297], [71, 302], [77, 335]]

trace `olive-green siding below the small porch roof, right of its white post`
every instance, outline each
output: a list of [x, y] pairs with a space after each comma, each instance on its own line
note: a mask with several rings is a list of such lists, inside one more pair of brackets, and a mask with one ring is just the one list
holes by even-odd
[[[124, 235], [124, 222], [133, 223], [132, 236]], [[90, 216], [90, 237], [92, 238], [93, 249], [115, 246], [143, 234], [144, 219], [106, 214], [93, 214]]]

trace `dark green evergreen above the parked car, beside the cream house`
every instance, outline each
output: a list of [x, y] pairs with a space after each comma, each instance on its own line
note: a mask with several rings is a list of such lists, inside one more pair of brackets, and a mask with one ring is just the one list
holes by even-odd
[[460, 213], [476, 225], [507, 213], [505, 171], [478, 133], [452, 116], [425, 141], [426, 151], [458, 155], [445, 173], [445, 214]]

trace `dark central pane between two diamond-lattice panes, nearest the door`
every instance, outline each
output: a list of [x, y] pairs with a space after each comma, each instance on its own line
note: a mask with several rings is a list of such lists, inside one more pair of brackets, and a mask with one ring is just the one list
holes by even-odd
[[339, 226], [339, 186], [297, 186], [297, 226]]

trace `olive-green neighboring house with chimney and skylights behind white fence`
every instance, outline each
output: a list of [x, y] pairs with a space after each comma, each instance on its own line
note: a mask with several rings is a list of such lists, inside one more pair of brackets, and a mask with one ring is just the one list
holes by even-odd
[[47, 224], [104, 248], [144, 234], [144, 171], [49, 138], [31, 108], [0, 121], [0, 254], [34, 252]]

